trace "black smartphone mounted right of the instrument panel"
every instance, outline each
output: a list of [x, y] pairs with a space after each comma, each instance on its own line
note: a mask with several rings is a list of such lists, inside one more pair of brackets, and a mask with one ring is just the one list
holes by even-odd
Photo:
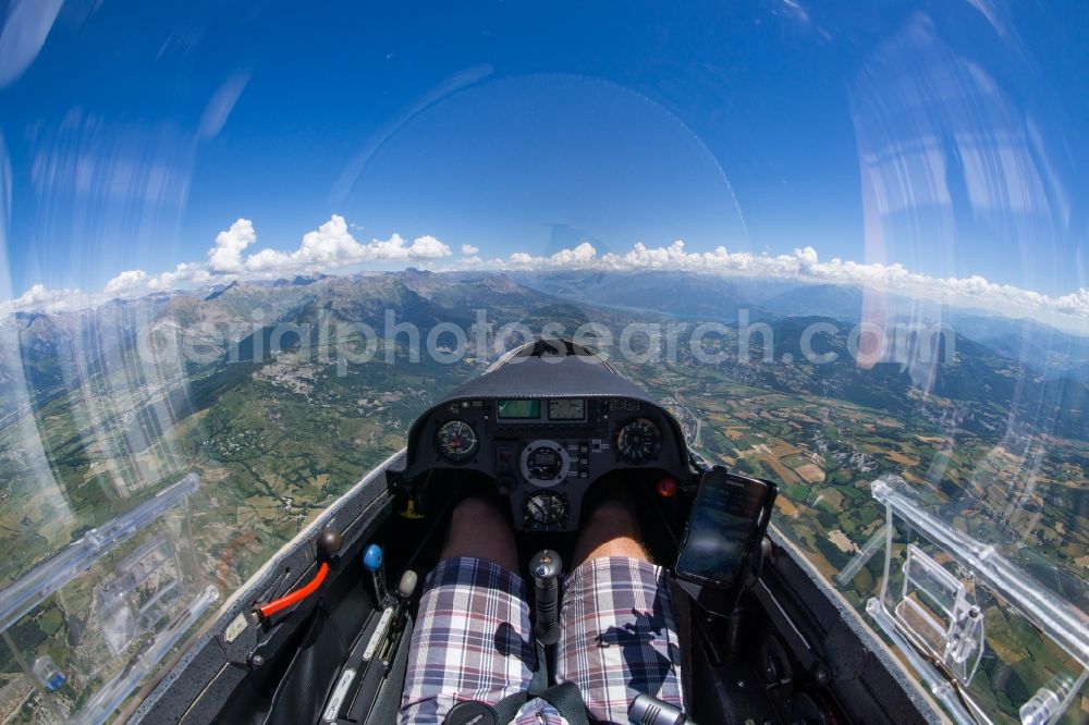
[[717, 466], [703, 475], [673, 570], [677, 577], [729, 589], [768, 528], [776, 488]]

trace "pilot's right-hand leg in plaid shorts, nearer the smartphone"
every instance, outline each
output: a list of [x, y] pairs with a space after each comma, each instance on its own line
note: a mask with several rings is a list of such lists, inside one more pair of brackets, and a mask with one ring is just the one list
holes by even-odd
[[626, 504], [602, 504], [583, 527], [578, 566], [566, 582], [556, 680], [577, 685], [600, 721], [627, 722], [627, 706], [640, 692], [683, 706], [669, 575], [639, 540]]

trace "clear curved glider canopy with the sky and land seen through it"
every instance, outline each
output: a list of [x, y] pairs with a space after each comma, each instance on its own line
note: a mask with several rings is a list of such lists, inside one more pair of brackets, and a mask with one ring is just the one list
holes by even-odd
[[951, 716], [1089, 716], [1086, 9], [320, 4], [2, 11], [0, 722], [131, 704], [539, 334]]

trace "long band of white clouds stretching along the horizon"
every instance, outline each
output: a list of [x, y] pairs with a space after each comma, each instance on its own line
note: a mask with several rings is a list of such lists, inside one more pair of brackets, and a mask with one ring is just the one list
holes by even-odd
[[183, 262], [172, 271], [154, 275], [144, 270], [126, 270], [107, 282], [101, 292], [90, 294], [78, 290], [48, 290], [36, 284], [21, 297], [0, 304], [0, 314], [17, 310], [56, 312], [93, 306], [114, 297], [135, 297], [209, 282], [310, 274], [368, 263], [412, 262], [438, 270], [684, 271], [860, 286], [1002, 315], [1029, 316], [1089, 332], [1089, 288], [1086, 287], [1062, 296], [1049, 296], [978, 275], [935, 278], [913, 272], [898, 263], [860, 263], [840, 258], [825, 261], [812, 247], [796, 248], [784, 255], [732, 253], [723, 246], [711, 251], [688, 251], [683, 241], [676, 241], [663, 247], [636, 244], [625, 253], [598, 254], [594, 245], [584, 242], [549, 256], [515, 251], [506, 258], [485, 260], [478, 256], [478, 247], [463, 244], [462, 257], [444, 262], [442, 260], [454, 253], [433, 236], [420, 236], [409, 243], [400, 234], [393, 234], [388, 239], [360, 243], [348, 228], [343, 217], [333, 214], [318, 229], [303, 235], [297, 249], [265, 248], [252, 253], [257, 244], [257, 231], [248, 219], [238, 219], [216, 236], [203, 262]]

